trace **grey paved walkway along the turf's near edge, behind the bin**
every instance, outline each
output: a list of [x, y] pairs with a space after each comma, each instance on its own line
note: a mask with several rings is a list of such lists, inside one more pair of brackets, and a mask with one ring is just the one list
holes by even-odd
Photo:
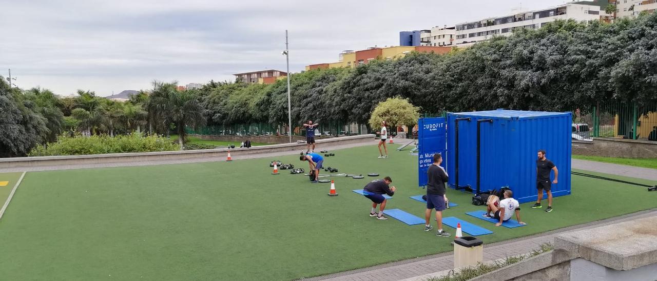
[[[484, 245], [484, 261], [494, 259], [503, 259], [512, 255], [522, 255], [539, 249], [541, 244], [553, 243], [554, 237], [565, 232], [581, 230], [585, 228], [599, 227], [601, 225], [610, 225], [627, 219], [640, 219], [643, 217], [652, 217], [657, 215], [657, 209], [640, 211], [629, 215], [595, 221], [583, 225], [566, 227], [549, 232], [528, 236], [525, 238], [516, 238], [493, 244]], [[436, 238], [441, 239], [441, 238]], [[449, 239], [449, 238], [447, 238]], [[365, 281], [365, 280], [403, 280], [420, 275], [432, 274], [443, 270], [453, 269], [454, 259], [451, 252], [398, 261], [365, 269], [356, 269], [346, 272], [338, 272], [325, 276], [307, 278], [304, 280], [341, 280], [341, 281]]]

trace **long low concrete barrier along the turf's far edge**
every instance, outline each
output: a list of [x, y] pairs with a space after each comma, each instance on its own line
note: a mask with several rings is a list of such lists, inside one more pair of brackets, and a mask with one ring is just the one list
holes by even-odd
[[[350, 137], [338, 137], [317, 141], [322, 149], [330, 146], [355, 143], [372, 143], [374, 135], [356, 135]], [[231, 156], [265, 154], [270, 152], [286, 152], [306, 150], [306, 143], [272, 144], [265, 146], [253, 146], [252, 148], [231, 148]], [[0, 169], [18, 167], [43, 167], [56, 165], [83, 165], [95, 163], [123, 163], [158, 160], [185, 160], [193, 158], [214, 158], [225, 160], [227, 148], [183, 150], [166, 152], [139, 152], [139, 153], [116, 153], [95, 154], [76, 156], [38, 156], [23, 158], [0, 158]]]

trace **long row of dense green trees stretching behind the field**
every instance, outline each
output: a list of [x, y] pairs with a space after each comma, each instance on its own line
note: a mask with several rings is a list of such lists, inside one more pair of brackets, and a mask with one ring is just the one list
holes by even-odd
[[[656, 45], [657, 14], [612, 24], [568, 20], [444, 55], [411, 53], [292, 74], [292, 123], [368, 123], [376, 104], [391, 97], [425, 113], [586, 110], [600, 100], [641, 106], [657, 102]], [[0, 81], [0, 156], [24, 155], [71, 129], [86, 135], [175, 130], [182, 145], [185, 126], [287, 123], [285, 81], [210, 81], [189, 91], [175, 86], [156, 81], [122, 103], [89, 91], [58, 98], [45, 89], [9, 89]]]

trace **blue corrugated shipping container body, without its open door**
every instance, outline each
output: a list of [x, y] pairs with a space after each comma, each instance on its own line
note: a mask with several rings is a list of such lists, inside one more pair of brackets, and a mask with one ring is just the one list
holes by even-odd
[[[570, 194], [570, 156], [572, 114], [570, 112], [532, 112], [489, 110], [447, 114], [447, 171], [449, 185], [455, 187], [455, 119], [459, 121], [459, 186], [476, 190], [477, 120], [481, 123], [480, 190], [509, 186], [520, 203], [536, 200], [536, 160], [538, 150], [558, 169], [553, 196]], [[551, 173], [554, 179], [554, 173]], [[543, 196], [543, 200], [547, 200]]]

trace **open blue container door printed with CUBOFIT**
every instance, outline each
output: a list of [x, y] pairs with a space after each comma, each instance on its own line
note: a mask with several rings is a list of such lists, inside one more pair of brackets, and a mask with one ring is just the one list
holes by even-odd
[[420, 118], [418, 121], [418, 185], [426, 186], [426, 171], [434, 160], [433, 156], [440, 153], [447, 167], [447, 120], [440, 118]]

